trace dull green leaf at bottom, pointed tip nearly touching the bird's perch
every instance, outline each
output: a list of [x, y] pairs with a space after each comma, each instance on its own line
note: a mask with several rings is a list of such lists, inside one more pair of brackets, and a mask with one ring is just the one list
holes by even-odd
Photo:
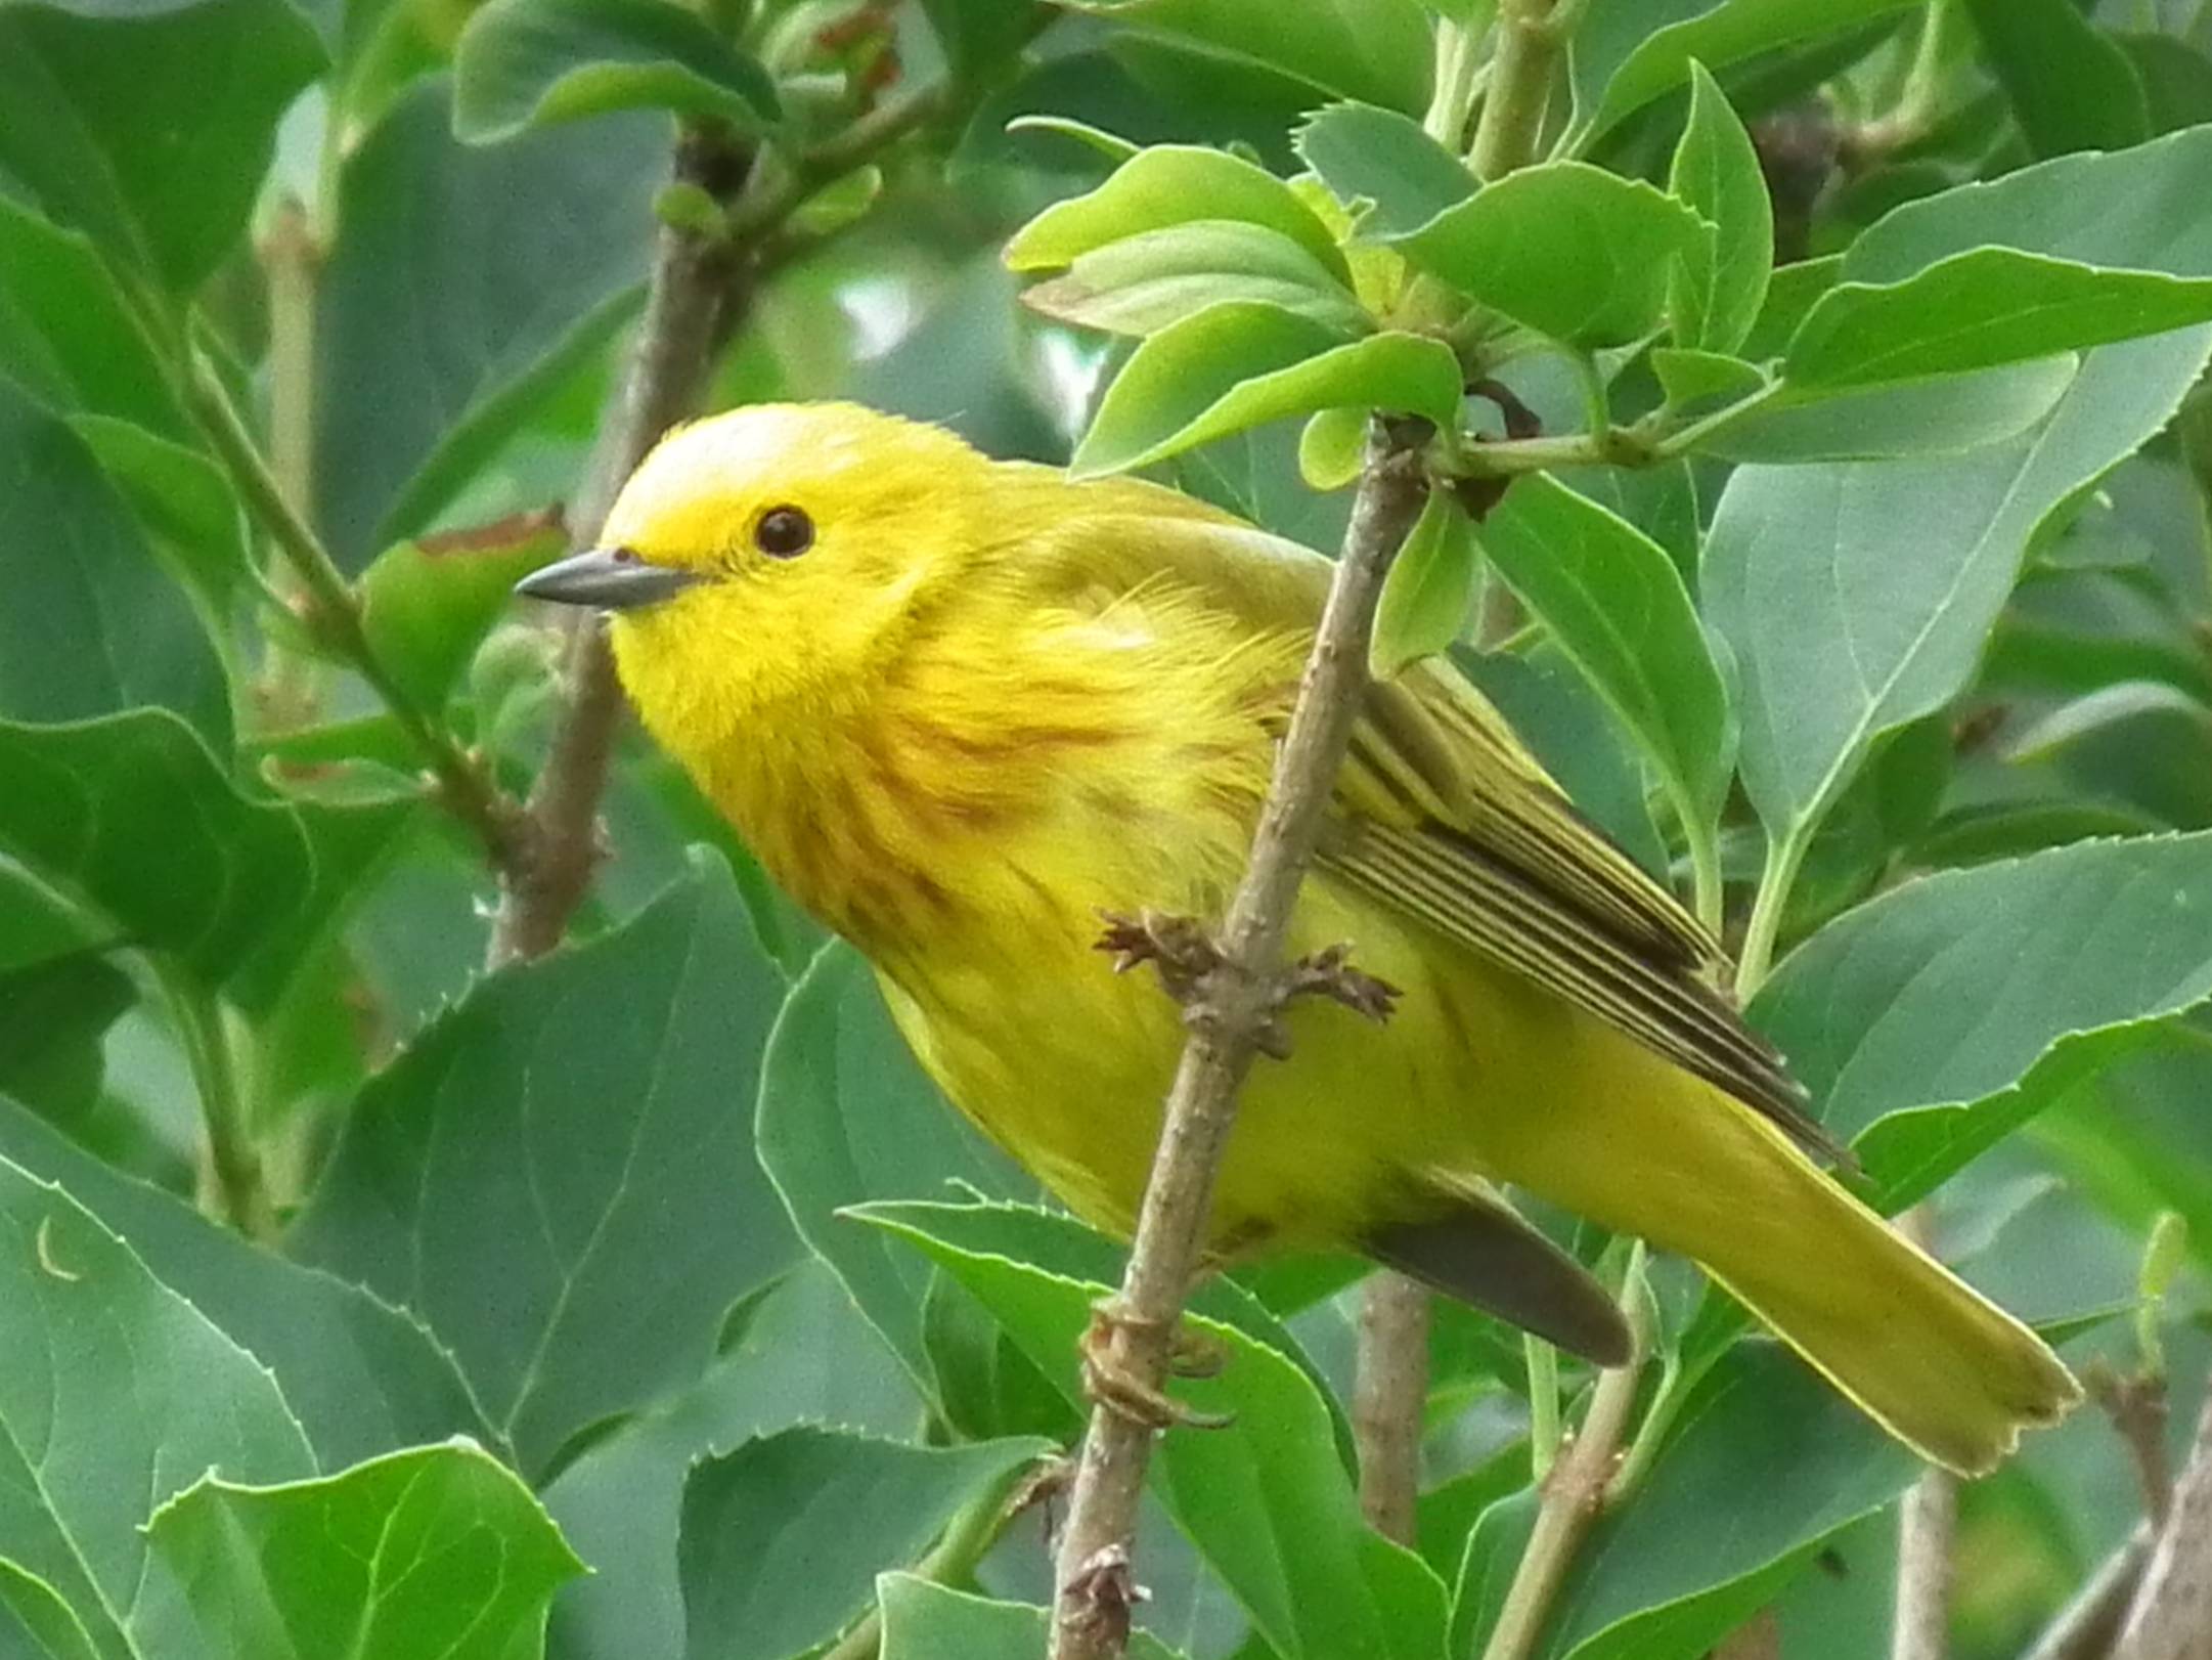
[[[686, 1660], [790, 1660], [869, 1602], [971, 1505], [1004, 1501], [1057, 1448], [914, 1448], [801, 1425], [699, 1463], [684, 1483]], [[792, 1565], [805, 1571], [790, 1571]]]

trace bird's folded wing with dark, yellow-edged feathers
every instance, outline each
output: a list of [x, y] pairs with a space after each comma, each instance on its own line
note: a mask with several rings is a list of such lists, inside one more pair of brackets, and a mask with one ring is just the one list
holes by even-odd
[[[1144, 485], [1115, 489], [1113, 507], [1133, 516], [1155, 500]], [[1144, 575], [1168, 573], [1254, 629], [1312, 633], [1329, 580], [1318, 553], [1212, 516], [1126, 531], [1110, 540], [1144, 549]], [[1367, 691], [1336, 808], [1327, 870], [1719, 1085], [1807, 1149], [1847, 1158], [1721, 989], [1712, 934], [1575, 810], [1447, 662]]]

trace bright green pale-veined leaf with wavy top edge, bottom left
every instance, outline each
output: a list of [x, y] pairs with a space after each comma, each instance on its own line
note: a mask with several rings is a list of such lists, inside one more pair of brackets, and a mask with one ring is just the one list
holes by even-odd
[[257, 1660], [526, 1656], [584, 1565], [513, 1470], [473, 1441], [334, 1476], [201, 1476], [146, 1532], [221, 1653]]

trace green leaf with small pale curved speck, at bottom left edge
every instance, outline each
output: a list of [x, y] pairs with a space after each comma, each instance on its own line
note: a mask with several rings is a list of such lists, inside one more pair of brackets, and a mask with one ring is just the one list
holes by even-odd
[[206, 1470], [314, 1470], [274, 1379], [75, 1200], [0, 1160], [0, 1556], [102, 1653], [192, 1656], [139, 1525]]

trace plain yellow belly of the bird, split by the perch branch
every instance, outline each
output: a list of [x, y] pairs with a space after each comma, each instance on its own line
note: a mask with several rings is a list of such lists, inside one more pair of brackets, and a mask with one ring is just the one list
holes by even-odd
[[[885, 974], [885, 994], [945, 1093], [1073, 1211], [1126, 1235], [1186, 1031], [1150, 969], [1113, 974], [1077, 919], [1033, 921], [1029, 961], [947, 950]], [[1513, 1180], [1531, 1116], [1590, 1120], [1568, 1133], [1604, 1158], [1590, 1098], [1624, 1065], [1646, 1071], [1635, 1045], [1316, 874], [1292, 950], [1338, 941], [1400, 987], [1398, 1007], [1385, 1025], [1321, 1000], [1290, 1011], [1292, 1058], [1254, 1065], [1221, 1171], [1223, 1255], [1356, 1244], [1422, 1208], [1438, 1173]]]

